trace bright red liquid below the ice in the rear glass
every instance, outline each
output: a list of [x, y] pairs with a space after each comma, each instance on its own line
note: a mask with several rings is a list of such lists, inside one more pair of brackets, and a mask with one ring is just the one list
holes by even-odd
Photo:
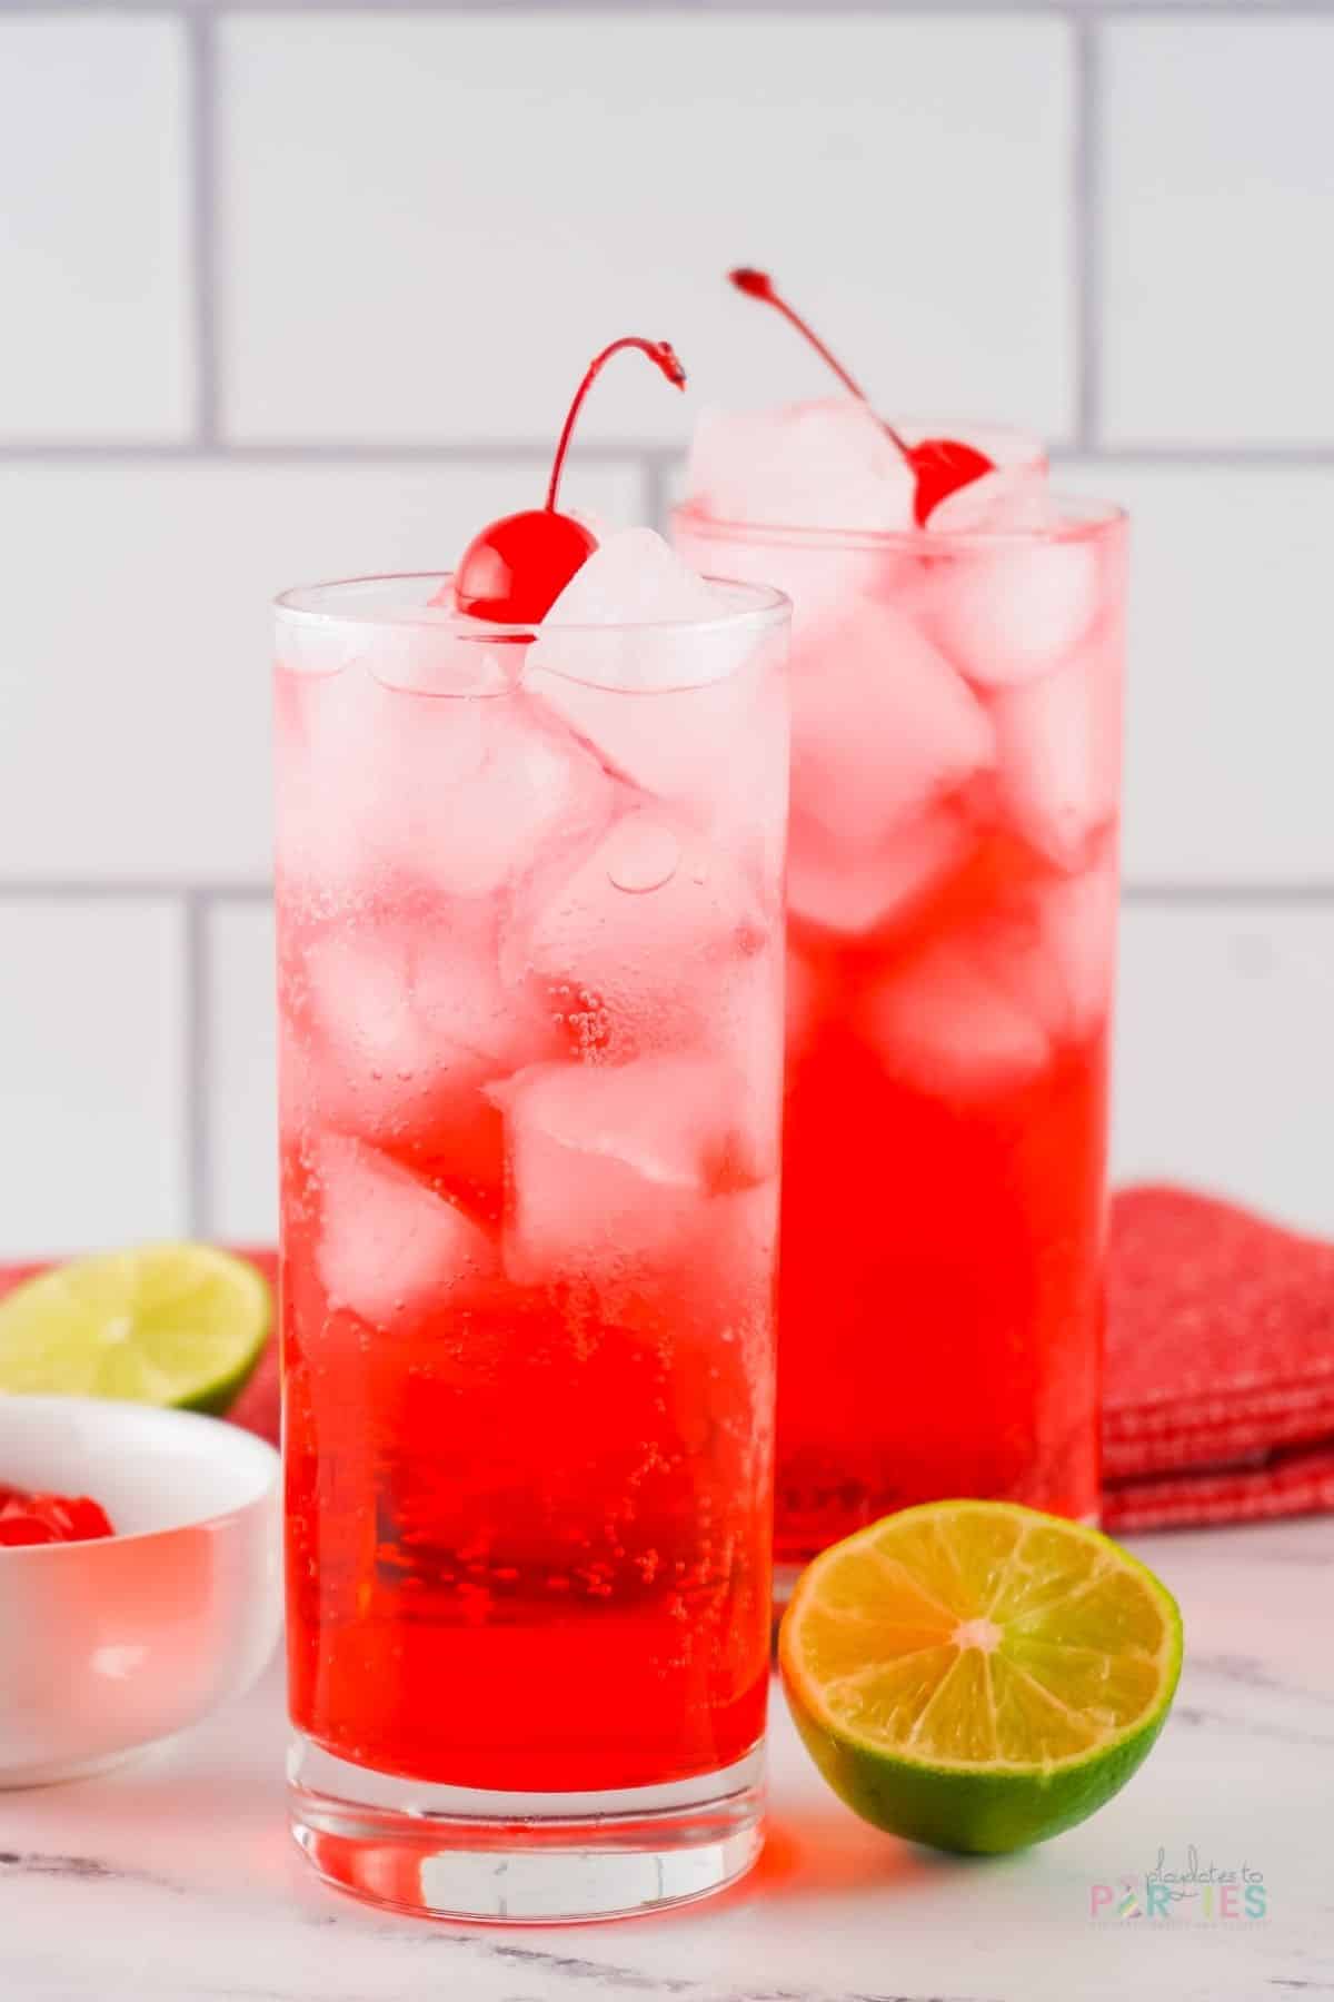
[[784, 1129], [780, 1562], [954, 1493], [1096, 1516], [1106, 1013], [1042, 1055], [1006, 1013], [982, 1057], [978, 1025], [976, 1071], [936, 1045], [946, 1011], [940, 1041], [966, 1045], [992, 1001], [970, 973], [954, 985], [960, 933], [1026, 931], [1050, 887], [978, 829], [958, 875], [860, 947], [794, 919], [808, 1015]]

